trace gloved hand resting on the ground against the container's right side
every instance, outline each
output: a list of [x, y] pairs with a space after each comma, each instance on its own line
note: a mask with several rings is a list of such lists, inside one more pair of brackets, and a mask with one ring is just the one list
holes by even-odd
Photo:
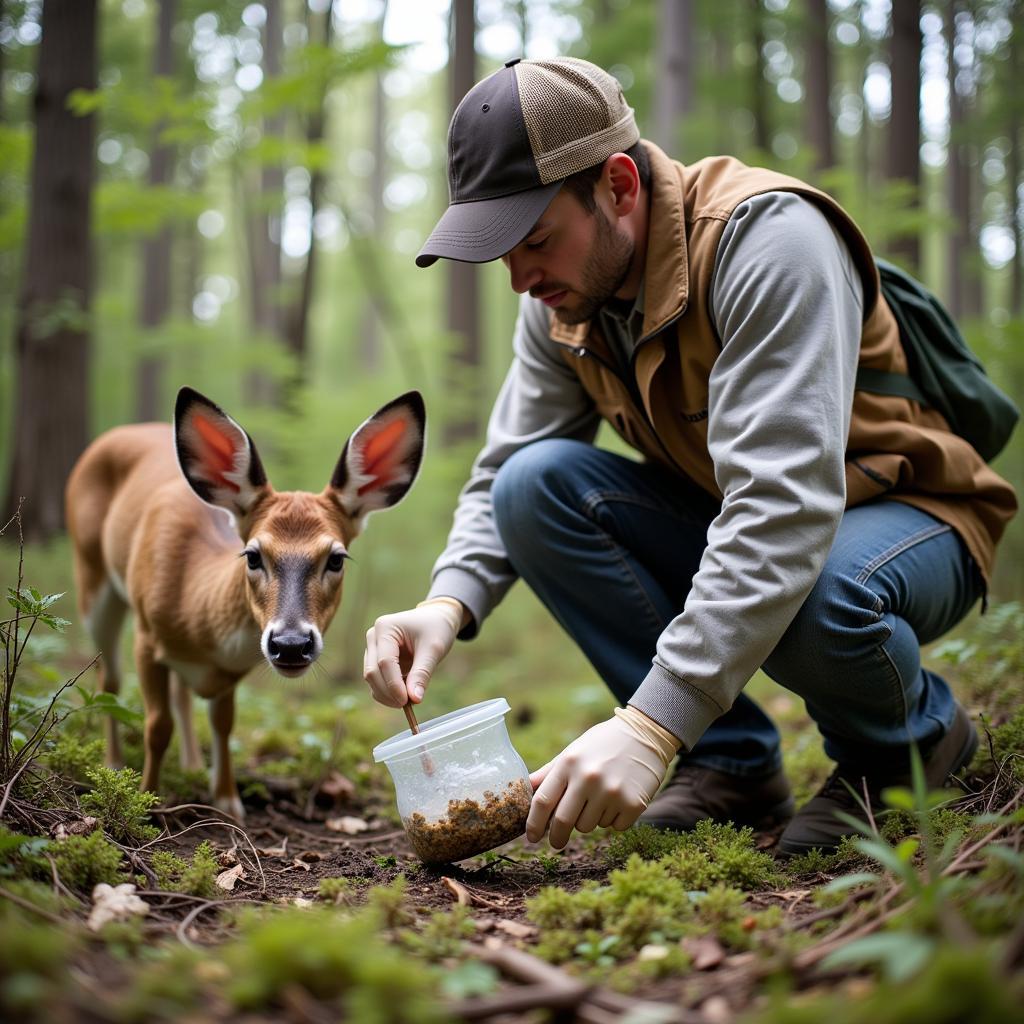
[[657, 793], [679, 746], [636, 708], [616, 708], [614, 718], [588, 729], [530, 775], [526, 839], [539, 842], [550, 825], [548, 840], [560, 850], [573, 828], [629, 828]]

